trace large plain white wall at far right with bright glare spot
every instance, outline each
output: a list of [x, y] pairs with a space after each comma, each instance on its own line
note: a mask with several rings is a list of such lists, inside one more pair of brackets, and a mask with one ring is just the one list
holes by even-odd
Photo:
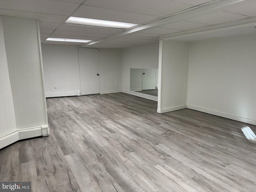
[[256, 35], [194, 42], [188, 108], [256, 124]]

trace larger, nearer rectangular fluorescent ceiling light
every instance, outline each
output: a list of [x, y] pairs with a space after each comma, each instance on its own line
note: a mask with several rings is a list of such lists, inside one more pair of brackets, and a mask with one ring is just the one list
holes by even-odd
[[89, 19], [89, 18], [81, 18], [81, 17], [70, 17], [70, 18], [68, 18], [68, 20], [66, 20], [65, 24], [93, 26], [93, 27], [105, 27], [105, 28], [117, 28], [117, 29], [130, 28], [130, 27], [138, 25], [138, 24], [133, 24], [133, 23], [123, 23], [123, 22]]

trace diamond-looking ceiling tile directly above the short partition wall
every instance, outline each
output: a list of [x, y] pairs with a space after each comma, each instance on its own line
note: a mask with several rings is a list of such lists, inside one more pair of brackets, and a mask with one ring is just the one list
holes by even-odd
[[197, 28], [202, 28], [207, 26], [210, 26], [210, 25], [204, 24], [204, 23], [190, 22], [190, 21], [180, 21], [180, 22], [164, 25], [162, 27], [169, 28], [169, 29], [178, 29], [178, 30], [190, 30], [190, 29], [197, 29]]

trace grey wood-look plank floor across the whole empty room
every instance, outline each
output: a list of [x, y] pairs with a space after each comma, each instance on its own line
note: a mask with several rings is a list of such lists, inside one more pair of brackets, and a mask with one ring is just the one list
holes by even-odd
[[[247, 124], [114, 93], [48, 98], [50, 136], [0, 151], [0, 181], [34, 192], [255, 192]], [[254, 132], [256, 126], [249, 125]]]

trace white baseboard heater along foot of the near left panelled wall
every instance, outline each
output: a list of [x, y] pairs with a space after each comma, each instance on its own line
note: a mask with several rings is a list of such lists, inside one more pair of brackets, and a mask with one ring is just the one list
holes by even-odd
[[48, 125], [19, 129], [12, 133], [9, 133], [0, 137], [0, 149], [18, 140], [39, 137], [39, 136], [48, 136], [49, 134], [50, 134], [50, 130], [48, 128]]

